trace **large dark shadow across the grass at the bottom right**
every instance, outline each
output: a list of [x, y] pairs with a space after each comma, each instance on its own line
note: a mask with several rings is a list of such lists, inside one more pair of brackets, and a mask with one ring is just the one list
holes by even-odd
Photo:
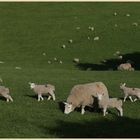
[[58, 138], [139, 138], [140, 120], [127, 117], [114, 117], [109, 120], [106, 116], [102, 120], [57, 121], [56, 127], [41, 129], [44, 133], [48, 130]]

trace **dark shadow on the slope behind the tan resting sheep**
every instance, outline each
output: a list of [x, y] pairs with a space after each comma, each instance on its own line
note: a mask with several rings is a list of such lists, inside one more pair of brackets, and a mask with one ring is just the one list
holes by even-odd
[[122, 59], [112, 58], [106, 59], [104, 62], [100, 62], [100, 64], [92, 64], [92, 63], [78, 63], [76, 67], [80, 70], [117, 70], [117, 67], [122, 64], [130, 61], [135, 70], [140, 70], [140, 52], [128, 53], [121, 55]]

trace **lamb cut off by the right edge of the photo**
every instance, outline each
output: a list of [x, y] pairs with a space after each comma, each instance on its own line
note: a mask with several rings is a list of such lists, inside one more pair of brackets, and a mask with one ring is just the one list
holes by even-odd
[[[124, 93], [124, 102], [126, 101], [126, 98], [129, 97], [129, 99], [131, 100], [131, 102], [134, 102], [137, 100], [137, 98], [140, 99], [140, 88], [130, 88], [130, 87], [126, 87], [126, 83], [120, 84], [120, 89], [123, 91]], [[137, 97], [136, 99], [132, 99], [132, 96]]]

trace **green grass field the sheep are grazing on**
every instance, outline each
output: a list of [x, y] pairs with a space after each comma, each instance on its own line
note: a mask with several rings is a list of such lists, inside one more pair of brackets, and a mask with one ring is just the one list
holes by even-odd
[[[0, 61], [5, 63], [0, 64], [0, 77], [14, 102], [0, 98], [0, 137], [140, 137], [140, 101], [127, 100], [122, 118], [113, 109], [106, 117], [94, 110], [65, 115], [62, 105], [79, 83], [102, 81], [109, 95], [118, 98], [123, 97], [120, 82], [140, 87], [139, 24], [140, 3], [1, 2]], [[90, 31], [89, 26], [95, 30]], [[95, 36], [99, 40], [94, 41]], [[113, 55], [116, 51], [121, 52], [122, 60]], [[63, 63], [55, 62], [54, 57]], [[80, 59], [78, 65], [73, 63], [75, 57]], [[126, 60], [134, 62], [136, 71], [116, 70]], [[29, 81], [54, 84], [56, 102], [46, 98], [38, 103]]]

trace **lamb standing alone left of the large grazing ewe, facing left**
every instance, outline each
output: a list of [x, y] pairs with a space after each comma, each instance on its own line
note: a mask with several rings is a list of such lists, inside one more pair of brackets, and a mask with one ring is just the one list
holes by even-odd
[[38, 95], [38, 101], [44, 100], [42, 95], [48, 94], [48, 100], [53, 99], [55, 101], [55, 86], [51, 84], [37, 85], [35, 83], [29, 82], [30, 88]]

